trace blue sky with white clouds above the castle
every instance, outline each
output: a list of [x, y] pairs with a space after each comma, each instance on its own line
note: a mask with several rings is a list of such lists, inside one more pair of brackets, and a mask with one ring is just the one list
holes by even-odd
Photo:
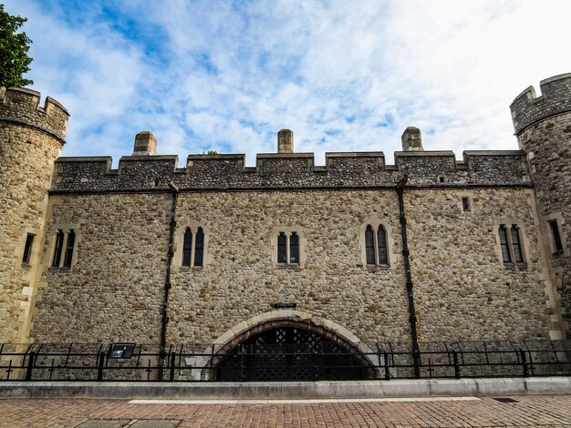
[[567, 0], [3, 0], [33, 89], [71, 114], [64, 156], [516, 149], [509, 105], [571, 72]]

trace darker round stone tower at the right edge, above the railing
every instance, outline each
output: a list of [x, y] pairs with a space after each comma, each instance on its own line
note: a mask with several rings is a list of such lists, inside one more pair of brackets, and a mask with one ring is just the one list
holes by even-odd
[[[545, 249], [545, 269], [555, 306], [552, 320], [558, 336], [569, 336], [571, 321], [571, 73], [540, 83], [541, 96], [528, 87], [510, 106], [515, 136], [527, 155], [539, 227]], [[549, 292], [547, 292], [549, 295]], [[560, 299], [560, 302], [556, 300]], [[559, 303], [559, 305], [557, 305]], [[557, 308], [557, 306], [559, 306]], [[559, 313], [557, 313], [559, 312]], [[558, 325], [557, 325], [558, 324]], [[556, 337], [554, 339], [563, 339]]]

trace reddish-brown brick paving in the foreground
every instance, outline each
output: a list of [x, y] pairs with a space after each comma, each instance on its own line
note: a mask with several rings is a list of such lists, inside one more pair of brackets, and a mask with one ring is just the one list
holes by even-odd
[[[1, 427], [571, 427], [571, 395], [477, 400], [328, 403], [130, 403], [127, 400], [3, 399]], [[508, 400], [509, 402], [509, 400]]]

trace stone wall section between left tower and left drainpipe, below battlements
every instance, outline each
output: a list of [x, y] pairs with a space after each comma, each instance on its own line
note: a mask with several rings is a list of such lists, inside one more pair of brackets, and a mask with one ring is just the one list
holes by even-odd
[[[169, 244], [170, 196], [52, 198], [35, 341], [158, 343]], [[73, 227], [77, 259], [51, 268], [57, 229]]]

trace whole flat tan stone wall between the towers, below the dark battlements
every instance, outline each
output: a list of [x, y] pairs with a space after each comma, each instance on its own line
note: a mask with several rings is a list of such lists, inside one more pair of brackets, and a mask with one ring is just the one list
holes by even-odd
[[[405, 190], [420, 341], [548, 336], [531, 195]], [[470, 212], [463, 212], [462, 197], [470, 198]], [[54, 198], [47, 229], [75, 222], [81, 241], [71, 270], [44, 275], [49, 286], [38, 301], [36, 341], [157, 342], [171, 194]], [[389, 232], [388, 269], [363, 265], [362, 226], [375, 220]], [[362, 341], [410, 341], [396, 191], [182, 191], [176, 221], [168, 341], [211, 343], [276, 302], [295, 302], [297, 311]], [[524, 268], [504, 268], [499, 221], [521, 226]], [[206, 232], [202, 268], [180, 266], [187, 225]], [[287, 228], [302, 236], [302, 267], [273, 261], [275, 231]]]

